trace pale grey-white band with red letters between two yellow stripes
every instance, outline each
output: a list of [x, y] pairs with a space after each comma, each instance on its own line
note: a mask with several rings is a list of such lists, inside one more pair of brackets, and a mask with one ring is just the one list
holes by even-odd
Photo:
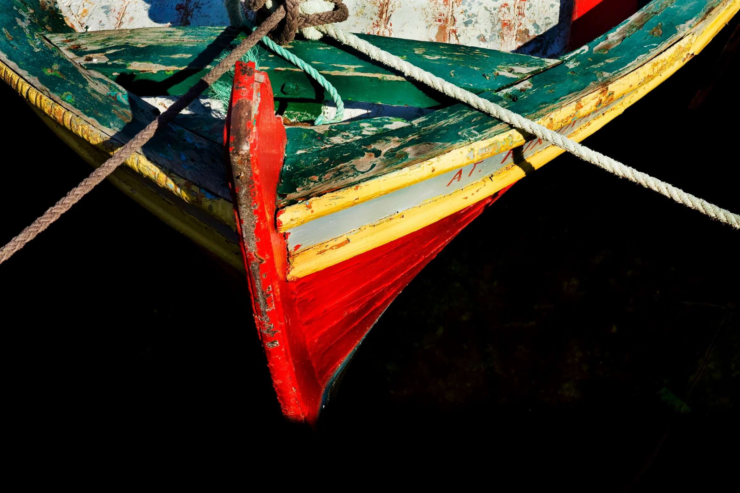
[[[593, 118], [618, 105], [624, 98], [625, 96], [622, 96], [622, 98], [612, 101], [595, 112], [573, 120], [557, 132], [570, 135], [579, 126], [585, 125]], [[513, 165], [515, 157], [517, 162], [522, 162], [522, 157], [526, 159], [550, 145], [542, 139], [528, 140], [521, 147], [509, 149], [477, 163], [462, 166], [437, 177], [431, 177], [423, 182], [414, 183], [414, 185], [393, 191], [390, 194], [334, 212], [334, 214], [305, 222], [286, 231], [288, 249], [292, 253], [297, 253], [313, 245], [329, 241], [329, 239], [350, 234], [351, 231], [355, 231], [364, 225], [372, 224], [384, 217], [399, 214], [428, 200], [434, 200], [460, 188], [465, 188], [470, 183], [491, 176], [497, 171]], [[517, 153], [519, 153], [518, 156]]]

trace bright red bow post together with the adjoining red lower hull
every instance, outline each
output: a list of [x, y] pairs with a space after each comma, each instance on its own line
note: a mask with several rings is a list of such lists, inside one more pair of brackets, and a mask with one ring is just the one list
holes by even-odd
[[314, 424], [343, 366], [383, 311], [505, 190], [419, 231], [289, 282], [287, 245], [275, 222], [285, 129], [274, 115], [266, 74], [250, 66], [237, 65], [226, 123], [235, 214], [255, 324], [277, 398], [286, 417]]

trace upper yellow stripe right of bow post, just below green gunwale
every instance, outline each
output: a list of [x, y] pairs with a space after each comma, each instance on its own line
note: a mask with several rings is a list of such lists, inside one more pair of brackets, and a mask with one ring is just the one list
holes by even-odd
[[[739, 7], [740, 0], [727, 1], [724, 7], [720, 7], [719, 10], [721, 12], [719, 14], [711, 16], [703, 24], [694, 27], [693, 33], [698, 33], [701, 30], [700, 35], [693, 34], [694, 37], [692, 38], [692, 34], [689, 34], [684, 36], [682, 41], [679, 41], [683, 50], [674, 44], [661, 55], [642, 65], [642, 67], [633, 70], [608, 86], [584, 95], [567, 106], [554, 110], [537, 120], [538, 123], [547, 126], [548, 129], [560, 129], [573, 122], [573, 120], [588, 115], [599, 109], [599, 107], [621, 98], [623, 95], [628, 94], [628, 92], [632, 92], [636, 87], [649, 84], [653, 78], [664, 77], [665, 71], [669, 70], [668, 66], [672, 66], [675, 63], [676, 57], [686, 55], [689, 49], [691, 53], [701, 51], [714, 35], [719, 32], [721, 27], [733, 17]], [[691, 38], [691, 44], [686, 45], [684, 41], [689, 38]], [[471, 143], [468, 146], [454, 149], [445, 154], [440, 154], [423, 163], [392, 171], [383, 176], [375, 177], [366, 182], [330, 192], [320, 197], [315, 197], [303, 203], [289, 205], [278, 213], [278, 230], [283, 232], [288, 231], [290, 228], [295, 228], [298, 225], [319, 217], [333, 214], [352, 205], [389, 194], [400, 188], [406, 188], [414, 183], [419, 183], [453, 169], [476, 163], [500, 152], [506, 152], [509, 149], [521, 146], [523, 143], [524, 137], [522, 134], [512, 129], [501, 135]]]

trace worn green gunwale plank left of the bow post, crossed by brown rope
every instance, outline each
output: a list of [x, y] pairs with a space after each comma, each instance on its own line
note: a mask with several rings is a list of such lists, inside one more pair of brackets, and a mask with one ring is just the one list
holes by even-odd
[[[67, 58], [44, 38], [48, 30], [21, 0], [0, 5], [0, 60], [58, 105], [79, 115], [104, 135], [109, 152], [120, 147], [155, 117], [154, 108], [94, 70]], [[41, 18], [43, 20], [43, 18]], [[164, 169], [195, 183], [204, 194], [230, 197], [217, 143], [170, 123], [142, 148]]]

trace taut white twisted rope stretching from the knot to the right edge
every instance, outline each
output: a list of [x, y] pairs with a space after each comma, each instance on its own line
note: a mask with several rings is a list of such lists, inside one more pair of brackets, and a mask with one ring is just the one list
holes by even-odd
[[650, 188], [650, 190], [656, 191], [666, 197], [670, 197], [679, 204], [696, 209], [697, 211], [707, 214], [707, 216], [712, 217], [713, 219], [724, 222], [733, 228], [740, 229], [740, 216], [738, 214], [733, 214], [717, 205], [708, 203], [706, 200], [694, 197], [692, 194], [687, 194], [680, 188], [676, 188], [675, 186], [653, 178], [649, 174], [637, 171], [636, 169], [619, 163], [619, 161], [613, 160], [604, 154], [588, 149], [588, 147], [582, 146], [575, 140], [559, 135], [557, 132], [548, 129], [539, 123], [528, 120], [522, 115], [517, 115], [517, 113], [502, 108], [495, 103], [491, 103], [491, 101], [486, 101], [485, 99], [474, 95], [472, 92], [468, 92], [454, 84], [450, 84], [443, 78], [439, 78], [430, 72], [426, 72], [419, 67], [415, 67], [407, 61], [403, 61], [401, 58], [398, 58], [396, 55], [380, 50], [380, 48], [374, 47], [367, 41], [357, 38], [356, 35], [346, 33], [334, 24], [323, 24], [321, 26], [316, 26], [316, 28], [322, 33], [328, 34], [332, 36], [332, 38], [341, 41], [343, 44], [346, 44], [359, 52], [363, 52], [370, 58], [403, 72], [407, 77], [415, 78], [417, 81], [428, 84], [429, 86], [434, 87], [434, 89], [444, 92], [448, 96], [456, 98], [463, 103], [469, 104], [475, 109], [479, 109], [482, 112], [488, 113], [488, 115], [517, 127], [517, 129], [522, 129], [525, 132], [536, 135], [542, 140], [546, 140], [561, 149], [571, 152], [571, 154], [575, 154], [582, 160], [586, 160], [589, 163], [599, 166], [599, 168], [610, 171], [620, 178], [627, 178], [635, 183], [639, 183], [645, 188]]

